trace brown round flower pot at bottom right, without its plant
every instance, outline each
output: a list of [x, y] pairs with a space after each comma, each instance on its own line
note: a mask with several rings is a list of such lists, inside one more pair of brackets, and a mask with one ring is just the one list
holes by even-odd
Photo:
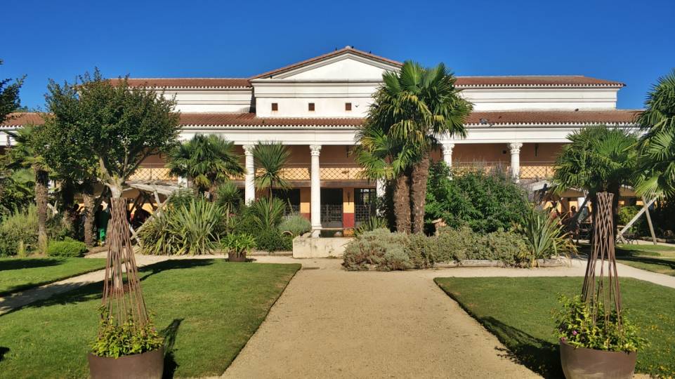
[[561, 364], [567, 379], [631, 379], [636, 352], [607, 352], [574, 347], [561, 340]]

